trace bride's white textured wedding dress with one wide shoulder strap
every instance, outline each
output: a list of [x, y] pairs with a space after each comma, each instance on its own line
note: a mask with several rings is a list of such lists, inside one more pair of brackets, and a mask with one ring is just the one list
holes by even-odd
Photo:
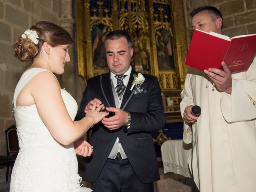
[[[52, 137], [40, 119], [35, 104], [16, 107], [20, 91], [42, 71], [48, 70], [32, 68], [24, 72], [14, 92], [14, 117], [20, 151], [12, 170], [10, 192], [85, 191], [88, 188], [80, 188], [81, 177], [78, 175], [73, 144], [64, 146]], [[61, 95], [70, 117], [74, 120], [77, 112], [76, 101], [66, 90], [61, 90]]]

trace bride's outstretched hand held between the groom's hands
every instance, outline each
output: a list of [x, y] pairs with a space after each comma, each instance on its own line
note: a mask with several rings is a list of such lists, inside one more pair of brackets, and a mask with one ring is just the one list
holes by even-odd
[[86, 112], [87, 117], [93, 118], [93, 124], [96, 124], [102, 120], [102, 118], [106, 117], [109, 113], [102, 111], [104, 109], [104, 105], [101, 104], [96, 108], [96, 102], [92, 105], [92, 110], [90, 112]]

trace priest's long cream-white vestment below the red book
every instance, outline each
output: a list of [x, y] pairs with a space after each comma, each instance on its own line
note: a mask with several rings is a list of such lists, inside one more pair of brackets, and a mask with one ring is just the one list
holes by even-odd
[[[180, 110], [198, 105], [193, 124], [193, 172], [200, 192], [256, 191], [256, 58], [232, 74], [232, 93], [212, 90], [204, 72], [189, 68]], [[184, 122], [183, 140], [191, 143]], [[191, 154], [188, 159], [191, 170]]]

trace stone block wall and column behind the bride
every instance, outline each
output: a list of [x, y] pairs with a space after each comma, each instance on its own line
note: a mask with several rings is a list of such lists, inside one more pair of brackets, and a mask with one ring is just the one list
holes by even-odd
[[78, 102], [82, 97], [84, 82], [77, 76], [74, 0], [0, 0], [0, 155], [6, 154], [4, 131], [15, 124], [12, 112], [14, 89], [22, 72], [31, 64], [20, 62], [13, 56], [12, 44], [40, 20], [58, 24], [72, 36], [71, 60], [66, 64], [65, 73], [57, 78], [62, 88], [66, 88]]

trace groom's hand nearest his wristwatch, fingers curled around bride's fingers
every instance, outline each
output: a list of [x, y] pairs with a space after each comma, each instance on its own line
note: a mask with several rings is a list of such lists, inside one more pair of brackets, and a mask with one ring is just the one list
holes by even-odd
[[109, 130], [115, 130], [122, 127], [126, 122], [126, 120], [128, 119], [128, 114], [122, 109], [107, 107], [106, 110], [108, 110], [109, 112], [115, 113], [114, 116], [109, 118], [104, 117], [101, 121], [104, 124], [104, 126]]

